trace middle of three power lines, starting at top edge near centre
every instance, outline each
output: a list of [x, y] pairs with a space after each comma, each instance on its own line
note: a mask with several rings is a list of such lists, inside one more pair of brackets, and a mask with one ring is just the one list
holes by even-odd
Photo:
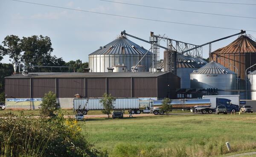
[[256, 17], [236, 16], [236, 15], [224, 15], [224, 14], [214, 14], [214, 13], [208, 13], [208, 12], [194, 12], [194, 11], [188, 11], [188, 10], [180, 10], [180, 9], [162, 8], [162, 7], [156, 7], [156, 6], [145, 6], [145, 5], [132, 4], [132, 3], [115, 2], [115, 1], [111, 1], [111, 0], [100, 0], [100, 1], [110, 2], [110, 3], [119, 3], [119, 4], [131, 5], [131, 6], [143, 6], [143, 7], [155, 8], [155, 9], [174, 10], [174, 11], [179, 11], [179, 12], [192, 12], [192, 13], [207, 14], [207, 15], [218, 15], [218, 16], [227, 16], [227, 17], [241, 17], [241, 18], [252, 18], [252, 19], [256, 19]]

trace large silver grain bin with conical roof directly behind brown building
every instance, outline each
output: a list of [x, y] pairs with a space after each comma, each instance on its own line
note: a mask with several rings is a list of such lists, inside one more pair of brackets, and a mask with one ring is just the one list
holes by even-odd
[[[89, 68], [91, 72], [108, 72], [108, 67], [124, 64], [127, 67], [127, 72], [131, 72], [131, 67], [135, 66], [147, 51], [125, 36], [119, 36], [116, 40], [89, 55]], [[148, 52], [140, 62], [140, 65], [146, 67], [146, 71], [151, 64], [150, 56], [151, 52]]]

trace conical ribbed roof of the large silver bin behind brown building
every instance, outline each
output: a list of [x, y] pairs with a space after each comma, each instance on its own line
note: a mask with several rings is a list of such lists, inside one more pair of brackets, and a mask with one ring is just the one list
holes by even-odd
[[[111, 43], [100, 47], [90, 55], [145, 55], [147, 49], [128, 40], [125, 36], [119, 36]], [[151, 52], [148, 52], [150, 55]]]

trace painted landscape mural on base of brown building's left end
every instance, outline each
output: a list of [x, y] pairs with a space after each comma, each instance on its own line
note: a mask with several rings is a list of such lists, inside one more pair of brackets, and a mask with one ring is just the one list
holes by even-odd
[[42, 103], [41, 98], [7, 98], [6, 105], [10, 106], [39, 106]]

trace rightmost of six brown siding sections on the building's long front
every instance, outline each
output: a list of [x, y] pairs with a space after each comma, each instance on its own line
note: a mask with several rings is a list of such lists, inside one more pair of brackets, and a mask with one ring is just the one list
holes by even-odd
[[157, 78], [133, 78], [132, 97], [157, 97]]

